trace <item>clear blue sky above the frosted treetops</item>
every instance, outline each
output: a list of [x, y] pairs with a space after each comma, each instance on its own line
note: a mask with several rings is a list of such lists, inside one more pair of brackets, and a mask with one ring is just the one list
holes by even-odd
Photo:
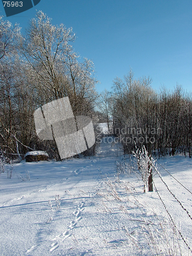
[[54, 25], [73, 28], [75, 51], [94, 62], [98, 92], [110, 90], [130, 68], [136, 78], [149, 75], [154, 89], [178, 83], [192, 91], [191, 0], [41, 0], [5, 19], [26, 28], [36, 9]]

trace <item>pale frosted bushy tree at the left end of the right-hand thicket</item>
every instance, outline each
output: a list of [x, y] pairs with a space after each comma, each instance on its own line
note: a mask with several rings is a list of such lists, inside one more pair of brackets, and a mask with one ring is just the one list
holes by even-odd
[[[132, 70], [124, 79], [115, 78], [113, 86], [114, 131], [123, 131], [122, 140], [125, 153], [132, 153], [134, 143], [146, 145], [154, 127], [154, 101], [157, 97], [151, 88], [151, 78], [133, 78]], [[119, 135], [119, 134], [118, 134]], [[121, 134], [122, 136], [122, 134]], [[147, 138], [147, 139], [146, 139]]]

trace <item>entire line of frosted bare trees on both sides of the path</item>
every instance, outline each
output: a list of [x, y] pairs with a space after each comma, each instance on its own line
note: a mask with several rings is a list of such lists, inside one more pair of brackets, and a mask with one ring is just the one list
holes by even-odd
[[[130, 70], [123, 79], [114, 79], [111, 91], [98, 97], [93, 62], [80, 61], [74, 41], [72, 28], [53, 25], [41, 11], [23, 34], [17, 24], [0, 17], [2, 154], [23, 159], [30, 150], [45, 150], [50, 158], [59, 160], [55, 142], [38, 139], [33, 113], [41, 105], [68, 96], [74, 115], [89, 115], [95, 122], [105, 120], [126, 154], [152, 142], [158, 156], [182, 153], [191, 157], [190, 93], [181, 86], [157, 93], [150, 77], [135, 79]], [[86, 154], [92, 154], [94, 148]]]

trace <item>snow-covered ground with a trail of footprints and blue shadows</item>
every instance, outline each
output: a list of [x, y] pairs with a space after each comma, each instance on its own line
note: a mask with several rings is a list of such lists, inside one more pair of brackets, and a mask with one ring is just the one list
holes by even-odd
[[[2, 173], [1, 256], [191, 255], [155, 189], [143, 193], [142, 181], [134, 173], [117, 176], [115, 162], [121, 155], [119, 144], [101, 143], [94, 157], [22, 161], [14, 164], [11, 179], [7, 170]], [[157, 161], [192, 190], [191, 159]], [[158, 167], [186, 210], [156, 174], [159, 195], [192, 248], [192, 195]]]

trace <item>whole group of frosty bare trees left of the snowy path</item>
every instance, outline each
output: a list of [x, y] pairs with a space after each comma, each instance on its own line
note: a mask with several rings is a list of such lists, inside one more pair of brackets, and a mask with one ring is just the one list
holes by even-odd
[[75, 34], [37, 12], [24, 34], [18, 25], [0, 17], [0, 149], [22, 159], [32, 149], [46, 150], [58, 159], [54, 141], [40, 141], [34, 111], [52, 100], [68, 96], [74, 115], [93, 115], [94, 66], [79, 61], [72, 43]]

